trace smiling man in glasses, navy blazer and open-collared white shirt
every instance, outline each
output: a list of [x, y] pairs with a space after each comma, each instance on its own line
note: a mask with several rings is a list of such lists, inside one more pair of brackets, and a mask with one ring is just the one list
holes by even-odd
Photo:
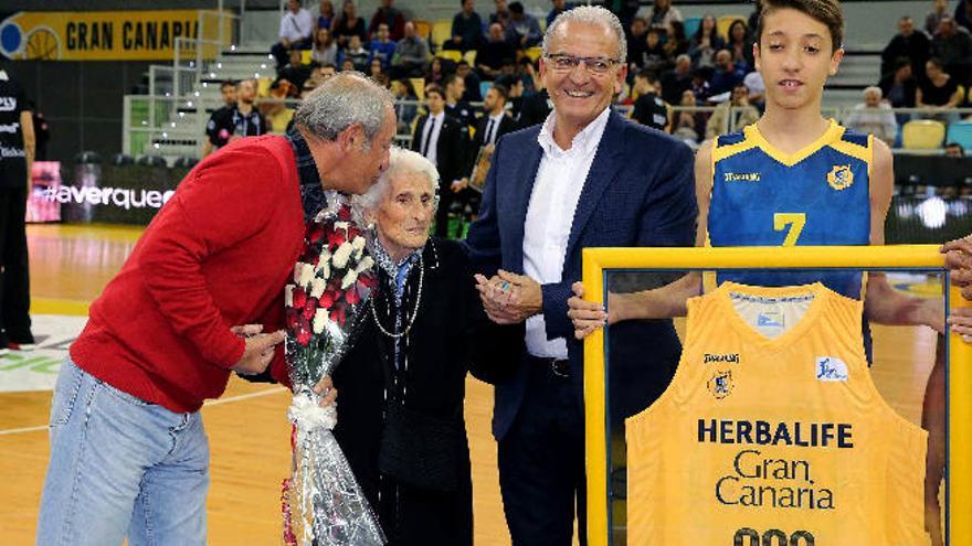
[[[585, 544], [582, 345], [567, 317], [581, 249], [691, 246], [697, 214], [689, 149], [610, 109], [627, 75], [617, 18], [575, 8], [547, 32], [540, 76], [553, 113], [499, 141], [466, 240], [487, 314], [525, 323], [493, 432], [513, 543], [528, 546], [571, 544], [574, 510]], [[668, 321], [611, 328], [616, 422], [665, 389], [680, 346]]]

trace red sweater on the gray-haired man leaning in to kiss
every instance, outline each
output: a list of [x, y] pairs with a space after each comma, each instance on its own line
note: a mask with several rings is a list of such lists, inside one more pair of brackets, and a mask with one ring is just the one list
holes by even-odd
[[196, 411], [225, 390], [230, 366], [243, 356], [230, 326], [283, 328], [283, 288], [303, 242], [289, 142], [257, 137], [228, 146], [200, 162], [149, 224], [92, 304], [71, 357], [142, 400]]

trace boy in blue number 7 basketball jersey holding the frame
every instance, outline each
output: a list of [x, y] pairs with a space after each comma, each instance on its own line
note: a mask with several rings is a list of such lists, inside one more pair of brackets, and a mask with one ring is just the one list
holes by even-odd
[[[699, 148], [695, 163], [697, 246], [884, 244], [894, 185], [891, 152], [883, 141], [821, 116], [824, 84], [836, 74], [844, 56], [838, 2], [763, 2], [757, 36], [753, 54], [767, 84], [765, 114], [744, 130]], [[847, 297], [860, 299], [865, 293], [869, 321], [923, 324], [938, 332], [944, 328], [940, 300], [898, 293], [883, 274], [871, 272], [866, 281], [856, 272], [719, 275], [720, 282], [726, 279], [764, 286], [820, 280]], [[581, 339], [606, 320], [685, 315], [686, 300], [701, 289], [701, 275], [691, 272], [656, 290], [611, 293], [609, 317], [581, 299], [583, 288], [578, 283], [578, 297], [569, 301], [568, 314]], [[942, 435], [943, 430], [931, 431], [932, 437]], [[934, 475], [940, 479], [941, 473], [930, 469], [929, 480]], [[938, 517], [929, 520], [934, 520], [929, 522], [934, 535]]]

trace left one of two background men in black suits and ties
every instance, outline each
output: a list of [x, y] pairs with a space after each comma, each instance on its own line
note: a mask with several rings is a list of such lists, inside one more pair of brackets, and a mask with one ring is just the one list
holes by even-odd
[[[412, 135], [412, 151], [424, 156], [439, 170], [439, 210], [435, 213], [435, 235], [446, 237], [450, 208], [462, 204], [457, 197], [468, 184], [466, 147], [469, 132], [462, 121], [445, 114], [445, 93], [439, 86], [425, 88], [429, 114], [421, 116]], [[465, 179], [465, 180], [464, 180]]]

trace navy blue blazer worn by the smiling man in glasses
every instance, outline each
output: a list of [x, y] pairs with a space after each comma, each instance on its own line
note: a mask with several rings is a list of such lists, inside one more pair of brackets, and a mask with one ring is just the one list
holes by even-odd
[[[499, 268], [524, 272], [527, 207], [543, 156], [537, 141], [540, 128], [506, 135], [496, 147], [479, 217], [466, 239], [473, 267], [487, 277]], [[562, 281], [542, 286], [547, 336], [567, 339], [580, 403], [583, 344], [573, 336], [567, 300], [571, 285], [581, 278], [581, 249], [691, 246], [697, 216], [693, 172], [694, 156], [685, 143], [611, 113], [574, 213]], [[620, 422], [665, 389], [682, 347], [668, 320], [622, 322], [611, 326], [608, 339], [609, 410]], [[524, 362], [513, 367], [510, 378], [496, 385], [493, 433], [497, 439], [516, 418], [529, 377]]]

